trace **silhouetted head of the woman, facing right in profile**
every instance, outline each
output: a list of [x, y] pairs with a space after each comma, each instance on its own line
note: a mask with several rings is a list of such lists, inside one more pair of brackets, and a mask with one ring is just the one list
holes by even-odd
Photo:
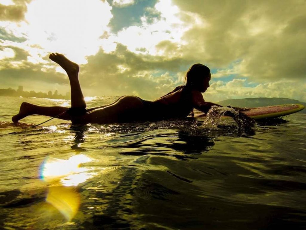
[[203, 64], [197, 63], [189, 68], [186, 74], [186, 86], [190, 86], [200, 92], [205, 92], [211, 79], [210, 69]]

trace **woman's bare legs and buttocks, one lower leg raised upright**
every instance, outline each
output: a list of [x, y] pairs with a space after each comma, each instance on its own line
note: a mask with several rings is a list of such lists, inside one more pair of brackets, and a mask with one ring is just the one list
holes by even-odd
[[[49, 58], [58, 63], [67, 73], [70, 81], [71, 87], [71, 107], [72, 108], [86, 108], [86, 102], [80, 87], [80, 82], [78, 79], [79, 66], [67, 59], [64, 55], [59, 53], [51, 53]], [[124, 96], [119, 98], [116, 102], [100, 106], [99, 109], [89, 109], [88, 113], [82, 116], [72, 116], [70, 117], [68, 113], [64, 113], [68, 108], [61, 106], [37, 106], [29, 103], [22, 103], [21, 109], [17, 115], [15, 115], [12, 120], [17, 122], [20, 119], [32, 115], [39, 114], [49, 117], [54, 117], [60, 113], [63, 113], [58, 118], [64, 120], [70, 120], [73, 124], [87, 124], [87, 123], [113, 123], [122, 121], [134, 121], [138, 120], [139, 111], [144, 107], [142, 101], [138, 97], [134, 96]]]

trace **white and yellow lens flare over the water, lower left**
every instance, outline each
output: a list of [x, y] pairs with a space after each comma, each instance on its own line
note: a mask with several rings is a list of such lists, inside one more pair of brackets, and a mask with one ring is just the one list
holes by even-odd
[[40, 167], [40, 178], [49, 184], [46, 201], [54, 206], [67, 221], [70, 221], [80, 207], [78, 184], [91, 178], [88, 168], [81, 167], [92, 159], [86, 155], [74, 155], [68, 160], [47, 158]]

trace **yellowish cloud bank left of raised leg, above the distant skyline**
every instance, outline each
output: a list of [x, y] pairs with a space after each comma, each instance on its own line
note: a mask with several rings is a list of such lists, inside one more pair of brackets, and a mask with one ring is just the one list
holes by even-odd
[[[33, 62], [30, 53], [22, 44], [0, 45], [4, 52], [0, 59], [0, 82], [2, 87], [16, 88], [23, 85], [24, 90], [47, 91], [47, 89], [69, 91], [67, 76], [55, 71], [52, 63], [45, 60]], [[29, 48], [29, 47], [26, 47]], [[33, 50], [31, 51], [33, 52]], [[54, 88], [56, 85], [58, 88]], [[46, 90], [44, 90], [46, 89]]]

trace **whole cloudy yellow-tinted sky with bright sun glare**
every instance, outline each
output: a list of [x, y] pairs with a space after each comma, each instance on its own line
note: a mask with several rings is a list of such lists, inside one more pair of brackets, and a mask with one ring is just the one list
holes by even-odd
[[1, 0], [0, 88], [70, 91], [58, 52], [85, 96], [158, 98], [202, 63], [206, 101], [306, 102], [305, 12], [305, 0]]

